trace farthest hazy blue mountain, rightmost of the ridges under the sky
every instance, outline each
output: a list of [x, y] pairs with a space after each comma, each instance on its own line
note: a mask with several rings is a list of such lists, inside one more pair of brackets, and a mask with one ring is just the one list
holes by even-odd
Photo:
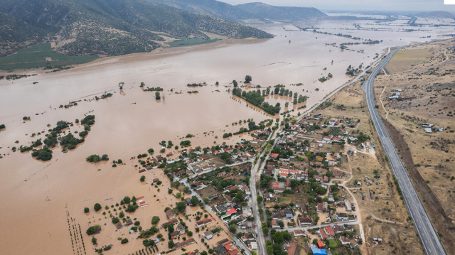
[[236, 6], [270, 21], [299, 21], [311, 18], [325, 18], [327, 16], [326, 13], [313, 7], [271, 6], [263, 3], [239, 4]]

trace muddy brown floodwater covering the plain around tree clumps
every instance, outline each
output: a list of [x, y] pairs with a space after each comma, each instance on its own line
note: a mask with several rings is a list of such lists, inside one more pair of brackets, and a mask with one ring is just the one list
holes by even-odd
[[[364, 27], [382, 27], [385, 31], [355, 30], [353, 23], [362, 23]], [[390, 24], [323, 21], [307, 24], [330, 33], [350, 33], [365, 39], [383, 40], [383, 43], [375, 45], [350, 45], [353, 51], [326, 45], [350, 42], [352, 39], [284, 31], [282, 25], [276, 24], [259, 26], [276, 35], [270, 40], [228, 40], [210, 45], [163, 49], [153, 53], [103, 58], [49, 74], [23, 71], [18, 73], [38, 75], [14, 81], [0, 80], [0, 124], [6, 124], [6, 130], [0, 131], [0, 153], [4, 156], [0, 158], [0, 192], [4, 197], [0, 204], [3, 212], [0, 218], [1, 254], [77, 254], [71, 245], [67, 213], [81, 226], [87, 254], [94, 254], [85, 229], [88, 222], [102, 217], [95, 217], [94, 212], [85, 215], [83, 207], [92, 209], [95, 202], [101, 202], [104, 207], [110, 205], [110, 200], [105, 202], [105, 199], [112, 197], [112, 201], [117, 202], [124, 195], [144, 195], [147, 200], [152, 200], [149, 197], [157, 193], [156, 190], [149, 190], [149, 185], [139, 183], [141, 174], [134, 168], [137, 161], [129, 158], [146, 153], [148, 148], [159, 151], [162, 140], [171, 140], [178, 145], [180, 138], [186, 134], [196, 135], [190, 139], [193, 147], [213, 146], [223, 141], [232, 144], [241, 138], [222, 139], [223, 133], [240, 128], [238, 124], [232, 126], [232, 122], [252, 118], [258, 123], [268, 118], [263, 112], [248, 108], [245, 102], [230, 96], [227, 90], [228, 87], [232, 89], [232, 80], [242, 81], [245, 75], [251, 75], [252, 85], [287, 85], [287, 89], [308, 96], [306, 105], [311, 107], [350, 79], [345, 75], [348, 65], [370, 65], [375, 54], [382, 54], [387, 47], [430, 40], [422, 38], [424, 36], [432, 36], [433, 39], [437, 35], [454, 33], [449, 26], [425, 26], [420, 28], [424, 29], [422, 31], [402, 32], [397, 28], [403, 23], [405, 21]], [[293, 28], [291, 25], [285, 27]], [[364, 53], [358, 50], [364, 50]], [[331, 80], [318, 81], [319, 77], [329, 72], [333, 74]], [[219, 86], [215, 86], [217, 81]], [[33, 85], [33, 82], [38, 84]], [[117, 86], [119, 82], [125, 83], [122, 93]], [[140, 82], [145, 82], [146, 87], [163, 87], [165, 91], [161, 95], [165, 98], [157, 102], [154, 92], [143, 92], [139, 88]], [[207, 86], [186, 87], [187, 83], [193, 82], [207, 82]], [[303, 85], [289, 86], [297, 83]], [[199, 93], [188, 94], [188, 90], [198, 90]], [[104, 92], [114, 95], [98, 102], [84, 101]], [[82, 101], [75, 107], [58, 109], [60, 104], [79, 99]], [[284, 108], [284, 102], [289, 99], [274, 95], [266, 100], [281, 102]], [[52, 127], [59, 120], [82, 119], [87, 113], [96, 116], [96, 123], [85, 143], [75, 150], [62, 153], [60, 148], [55, 148], [53, 159], [48, 162], [36, 161], [29, 153], [12, 153], [13, 146], [43, 138], [43, 134], [34, 138], [31, 134], [47, 133], [47, 124]], [[31, 121], [23, 122], [23, 116], [31, 116]], [[69, 130], [81, 131], [82, 126], [75, 124]], [[245, 135], [245, 138], [248, 136]], [[16, 140], [18, 143], [15, 143]], [[174, 149], [166, 150], [169, 151]], [[85, 158], [93, 153], [106, 153], [111, 161], [120, 158], [125, 165], [112, 168], [109, 163], [87, 163]], [[148, 179], [149, 175], [152, 174], [147, 172]], [[163, 191], [166, 192], [166, 189], [162, 188], [161, 194]], [[50, 201], [46, 200], [47, 197]], [[154, 210], [159, 210], [161, 217], [164, 213], [161, 207], [164, 205], [159, 209], [145, 207], [144, 212], [150, 212], [147, 214], [150, 217]], [[144, 212], [137, 214], [146, 218]], [[146, 219], [145, 227], [149, 227], [149, 220]], [[107, 222], [109, 224], [103, 228], [105, 233], [114, 231], [113, 225]], [[101, 237], [101, 244], [111, 242], [111, 237]], [[132, 242], [132, 238], [129, 239], [131, 243], [124, 244], [121, 249], [117, 248], [119, 241], [112, 240], [114, 247], [108, 252], [132, 253], [142, 249], [139, 240]]]

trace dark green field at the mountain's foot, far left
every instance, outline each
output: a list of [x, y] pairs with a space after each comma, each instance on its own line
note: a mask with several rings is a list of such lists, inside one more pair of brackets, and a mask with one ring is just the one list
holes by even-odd
[[[46, 58], [50, 58], [46, 61]], [[56, 53], [50, 48], [50, 43], [40, 43], [22, 50], [16, 54], [0, 58], [0, 70], [55, 68], [65, 65], [88, 63], [99, 58], [97, 55], [67, 56]]]

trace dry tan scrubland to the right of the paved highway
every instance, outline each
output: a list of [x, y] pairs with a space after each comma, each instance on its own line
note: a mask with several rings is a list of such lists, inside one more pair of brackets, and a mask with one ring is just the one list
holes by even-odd
[[455, 248], [454, 43], [399, 50], [386, 66], [392, 75], [375, 82], [380, 113], [447, 250]]

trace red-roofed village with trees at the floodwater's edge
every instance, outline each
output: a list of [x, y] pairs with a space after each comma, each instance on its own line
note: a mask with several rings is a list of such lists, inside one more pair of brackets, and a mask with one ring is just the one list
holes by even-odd
[[[264, 129], [252, 131], [251, 141], [234, 146], [223, 143], [183, 148], [165, 156], [139, 155], [141, 181], [148, 178], [152, 188], [167, 189], [178, 202], [169, 203], [164, 213], [153, 217], [161, 221], [152, 219], [149, 229], [138, 228], [129, 217], [120, 222], [111, 214], [112, 222], [117, 230], [126, 227], [129, 234], [144, 239], [145, 248], [139, 254], [257, 254], [257, 231], [270, 236], [270, 254], [339, 254], [345, 250], [360, 254], [359, 244], [365, 237], [360, 236], [360, 212], [353, 195], [359, 192], [363, 200], [368, 196], [363, 185], [373, 185], [380, 176], [353, 180], [352, 173], [341, 169], [348, 156], [375, 153], [373, 141], [356, 130], [358, 123], [360, 119], [309, 115], [301, 121], [282, 122], [284, 131], [274, 148], [274, 141], [267, 141], [270, 129]], [[270, 158], [257, 181], [259, 217], [263, 218], [262, 226], [257, 226], [250, 171], [264, 150]], [[368, 197], [374, 199], [371, 191]], [[143, 197], [132, 199], [132, 207], [138, 210], [150, 204]], [[168, 232], [168, 239], [161, 229]], [[376, 238], [374, 244], [380, 243], [382, 239]]]

